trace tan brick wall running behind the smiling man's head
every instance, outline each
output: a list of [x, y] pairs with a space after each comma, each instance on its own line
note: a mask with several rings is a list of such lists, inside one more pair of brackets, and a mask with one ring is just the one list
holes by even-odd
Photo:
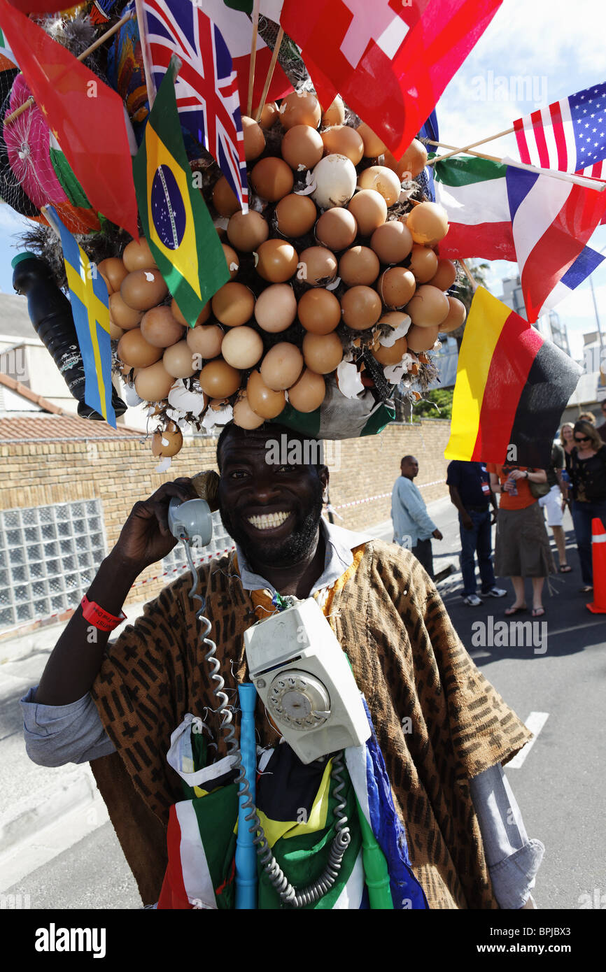
[[[391, 495], [400, 474], [402, 456], [411, 453], [419, 461], [417, 485], [440, 481], [423, 489], [427, 503], [445, 495], [444, 449], [449, 423], [426, 420], [418, 425], [391, 425], [380, 435], [348, 439], [340, 443], [340, 469], [331, 475], [330, 496], [334, 506]], [[127, 439], [23, 442], [0, 445], [0, 509], [100, 499], [103, 505], [108, 550], [114, 545], [133, 503], [145, 499], [162, 482], [194, 475], [200, 469], [216, 469], [216, 439], [186, 441], [167, 473], [154, 472], [156, 460], [149, 444], [133, 436]], [[351, 529], [371, 527], [389, 519], [390, 499], [356, 503], [339, 509], [336, 522]], [[129, 601], [153, 597], [166, 578], [142, 580], [158, 573], [158, 565], [142, 574]]]

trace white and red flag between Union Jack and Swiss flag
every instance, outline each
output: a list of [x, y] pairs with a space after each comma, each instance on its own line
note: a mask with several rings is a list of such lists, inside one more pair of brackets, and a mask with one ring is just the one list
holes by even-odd
[[[262, 0], [262, 13], [266, 13], [266, 6], [267, 0]], [[245, 115], [248, 104], [248, 71], [253, 41], [253, 25], [250, 17], [247, 17], [246, 14], [241, 13], [239, 10], [230, 10], [230, 6], [225, 4], [224, 0], [203, 0], [202, 7], [206, 17], [210, 17], [221, 31], [232, 54], [233, 67], [237, 75], [240, 107], [242, 114]], [[271, 17], [268, 10], [267, 16]], [[261, 95], [263, 94], [263, 88], [269, 72], [270, 60], [271, 52], [261, 34], [258, 34], [255, 59], [255, 82], [253, 86], [253, 113], [261, 101]], [[293, 86], [282, 68], [279, 64], [276, 64], [271, 84], [267, 91], [267, 101], [275, 101], [276, 98], [283, 97], [289, 91], [292, 91], [292, 89]]]

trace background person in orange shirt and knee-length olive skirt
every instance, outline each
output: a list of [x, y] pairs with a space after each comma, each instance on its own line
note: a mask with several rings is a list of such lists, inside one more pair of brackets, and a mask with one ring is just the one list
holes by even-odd
[[495, 538], [494, 570], [497, 576], [511, 577], [516, 600], [506, 614], [526, 610], [524, 578], [532, 579], [532, 616], [545, 614], [543, 585], [555, 572], [550, 540], [543, 513], [530, 491], [530, 482], [547, 482], [545, 469], [489, 463], [490, 488], [500, 494]]

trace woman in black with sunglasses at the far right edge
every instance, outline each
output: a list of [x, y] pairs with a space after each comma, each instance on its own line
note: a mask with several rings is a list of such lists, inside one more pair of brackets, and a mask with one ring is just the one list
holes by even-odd
[[591, 561], [591, 520], [597, 517], [606, 527], [606, 445], [589, 422], [576, 422], [574, 448], [566, 456], [566, 469], [572, 484], [572, 522], [581, 561], [584, 586], [593, 588]]

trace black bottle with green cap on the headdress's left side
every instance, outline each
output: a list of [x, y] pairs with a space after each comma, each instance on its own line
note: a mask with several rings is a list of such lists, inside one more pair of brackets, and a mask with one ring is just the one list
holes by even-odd
[[[19, 253], [12, 260], [13, 287], [27, 297], [27, 311], [34, 330], [48, 348], [70, 394], [78, 401], [78, 414], [83, 419], [105, 419], [85, 402], [85, 369], [78, 344], [72, 308], [57, 287], [51, 267], [32, 253]], [[125, 402], [112, 389], [116, 415], [124, 415]]]

